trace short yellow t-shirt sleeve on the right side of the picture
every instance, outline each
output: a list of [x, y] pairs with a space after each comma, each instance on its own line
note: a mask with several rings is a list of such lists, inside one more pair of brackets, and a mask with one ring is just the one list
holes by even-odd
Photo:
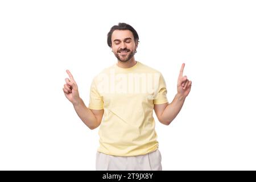
[[159, 76], [159, 86], [158, 86], [158, 93], [153, 101], [154, 104], [164, 104], [168, 102], [167, 100], [167, 89], [166, 89], [166, 82], [164, 81], [164, 77], [162, 74]]

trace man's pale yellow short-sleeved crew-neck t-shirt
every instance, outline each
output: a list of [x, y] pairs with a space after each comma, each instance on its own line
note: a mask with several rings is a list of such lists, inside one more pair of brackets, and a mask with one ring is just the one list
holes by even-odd
[[144, 155], [158, 149], [154, 104], [168, 102], [162, 74], [137, 61], [117, 64], [93, 78], [89, 109], [104, 109], [98, 134], [99, 152], [115, 156]]

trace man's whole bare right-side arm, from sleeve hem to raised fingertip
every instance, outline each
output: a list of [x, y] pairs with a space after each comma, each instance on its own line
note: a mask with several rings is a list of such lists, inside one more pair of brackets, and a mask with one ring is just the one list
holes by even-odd
[[170, 104], [165, 103], [154, 105], [156, 116], [164, 125], [170, 125], [177, 114], [179, 114], [185, 98], [191, 90], [192, 81], [189, 81], [187, 76], [183, 76], [184, 67], [185, 64], [183, 63], [177, 80], [177, 94], [175, 95], [174, 100]]

